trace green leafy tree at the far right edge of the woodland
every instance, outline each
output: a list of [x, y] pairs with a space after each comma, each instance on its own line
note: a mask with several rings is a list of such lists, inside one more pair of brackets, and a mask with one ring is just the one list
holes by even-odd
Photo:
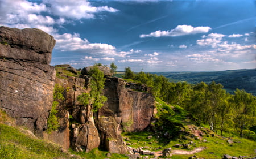
[[234, 107], [234, 123], [240, 130], [240, 137], [243, 137], [243, 130], [255, 125], [255, 97], [250, 93], [246, 93], [244, 89], [236, 89], [232, 104]]

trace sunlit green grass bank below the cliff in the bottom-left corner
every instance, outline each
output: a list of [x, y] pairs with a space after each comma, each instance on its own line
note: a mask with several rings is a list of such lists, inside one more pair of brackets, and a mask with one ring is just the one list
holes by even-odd
[[0, 124], [0, 158], [71, 158], [61, 148]]

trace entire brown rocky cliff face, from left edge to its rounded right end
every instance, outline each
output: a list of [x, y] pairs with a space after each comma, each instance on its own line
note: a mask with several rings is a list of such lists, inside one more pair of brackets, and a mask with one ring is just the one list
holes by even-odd
[[[64, 149], [88, 152], [101, 146], [112, 153], [126, 153], [121, 132], [144, 130], [154, 115], [154, 97], [145, 92], [149, 88], [105, 73], [108, 101], [89, 117], [89, 106], [80, 105], [77, 96], [89, 92], [90, 76], [59, 65], [55, 77], [55, 67], [49, 65], [54, 45], [54, 38], [39, 29], [0, 27], [0, 108], [14, 117], [16, 124]], [[109, 72], [109, 68], [102, 69]], [[64, 100], [57, 106], [59, 128], [49, 133], [47, 118], [54, 85], [63, 88]]]

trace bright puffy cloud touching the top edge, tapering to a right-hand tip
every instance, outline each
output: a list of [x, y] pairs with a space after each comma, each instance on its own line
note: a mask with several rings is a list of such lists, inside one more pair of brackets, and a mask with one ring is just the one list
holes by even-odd
[[118, 11], [108, 6], [94, 7], [86, 0], [44, 0], [43, 2], [49, 4], [48, 10], [52, 14], [65, 18], [94, 18], [97, 12]]

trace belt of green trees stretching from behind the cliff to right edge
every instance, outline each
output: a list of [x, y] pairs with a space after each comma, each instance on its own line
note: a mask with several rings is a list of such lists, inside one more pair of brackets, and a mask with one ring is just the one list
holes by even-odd
[[240, 137], [256, 140], [256, 97], [244, 90], [236, 89], [232, 95], [214, 81], [209, 84], [174, 83], [162, 75], [135, 74], [130, 67], [125, 68], [123, 78], [152, 87], [155, 97], [182, 106], [199, 126], [208, 124], [216, 133], [234, 132]]

